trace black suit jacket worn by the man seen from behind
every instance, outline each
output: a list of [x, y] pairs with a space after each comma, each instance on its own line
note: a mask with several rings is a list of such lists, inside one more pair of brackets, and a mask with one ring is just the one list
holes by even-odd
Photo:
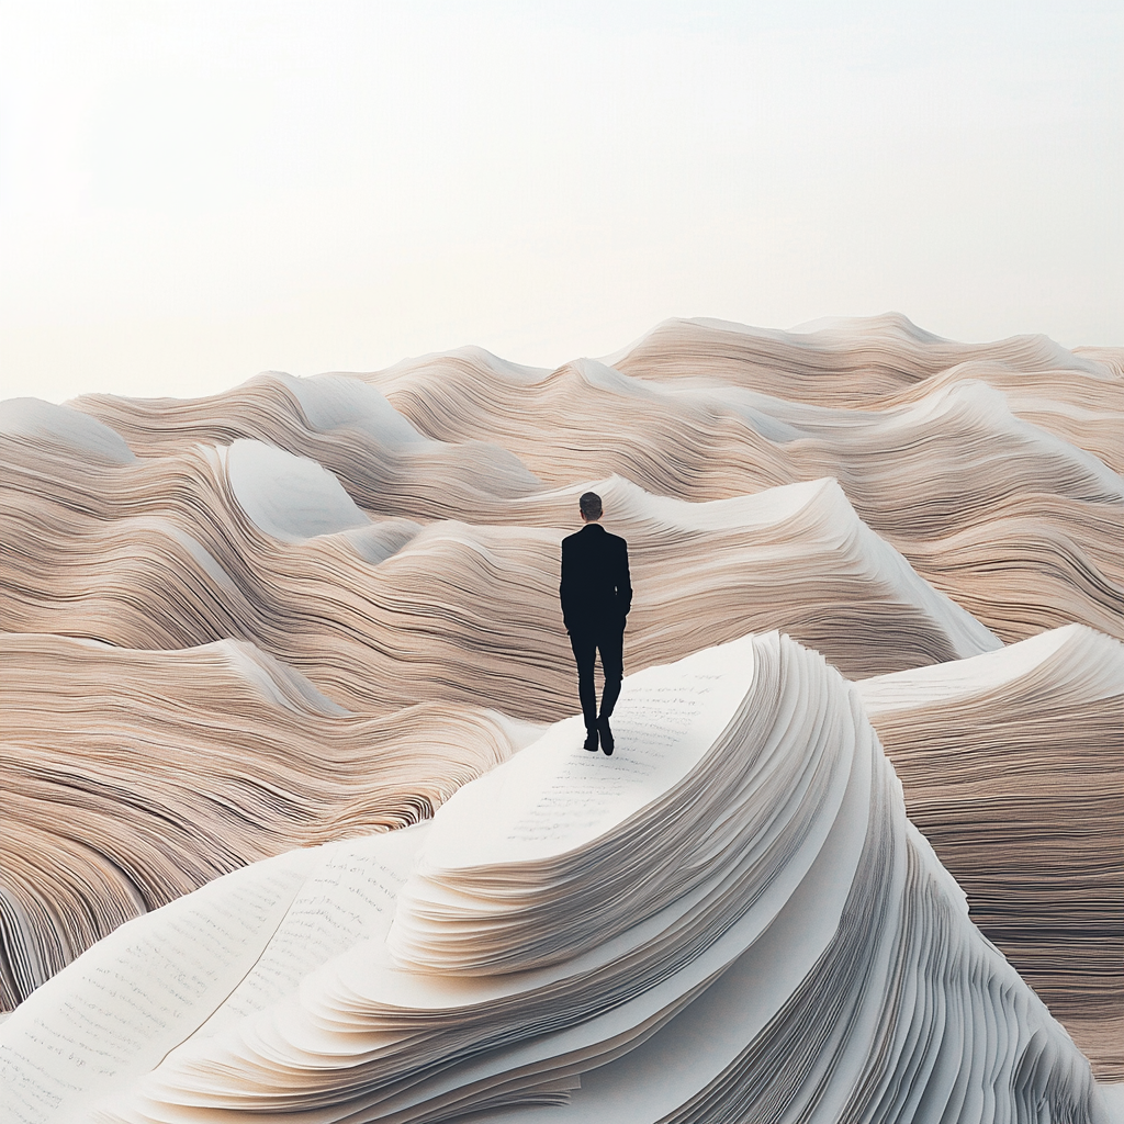
[[599, 523], [562, 540], [562, 619], [575, 635], [624, 631], [632, 608], [628, 547]]

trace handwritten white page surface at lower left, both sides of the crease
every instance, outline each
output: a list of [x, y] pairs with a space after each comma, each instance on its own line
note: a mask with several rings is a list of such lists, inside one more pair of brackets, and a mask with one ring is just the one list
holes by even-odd
[[427, 830], [292, 851], [123, 925], [0, 1027], [0, 1122], [116, 1099], [178, 1046], [292, 994], [359, 942], [381, 941]]

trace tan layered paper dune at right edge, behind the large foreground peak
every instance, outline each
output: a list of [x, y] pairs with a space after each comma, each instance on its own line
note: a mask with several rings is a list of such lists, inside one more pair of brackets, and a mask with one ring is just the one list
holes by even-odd
[[1124, 644], [1068, 625], [856, 686], [972, 919], [1124, 1081]]

